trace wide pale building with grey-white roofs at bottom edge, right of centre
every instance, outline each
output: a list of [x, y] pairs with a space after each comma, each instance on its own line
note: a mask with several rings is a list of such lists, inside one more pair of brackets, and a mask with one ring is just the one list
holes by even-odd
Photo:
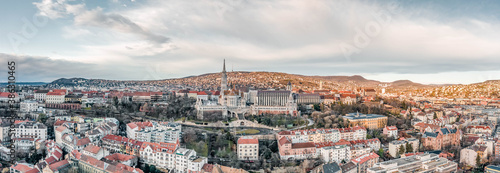
[[425, 153], [376, 163], [367, 173], [386, 172], [456, 172], [458, 164], [437, 154]]

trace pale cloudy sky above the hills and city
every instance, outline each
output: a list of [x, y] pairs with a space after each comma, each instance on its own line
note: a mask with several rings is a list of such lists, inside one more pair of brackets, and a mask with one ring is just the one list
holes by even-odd
[[[1, 1], [0, 60], [19, 82], [228, 71], [391, 82], [500, 79], [500, 1]], [[7, 66], [0, 69], [7, 80]]]

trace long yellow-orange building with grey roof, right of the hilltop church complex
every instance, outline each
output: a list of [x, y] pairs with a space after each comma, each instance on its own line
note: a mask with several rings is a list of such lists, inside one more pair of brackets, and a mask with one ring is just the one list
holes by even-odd
[[364, 126], [367, 129], [381, 129], [387, 125], [387, 117], [377, 114], [350, 113], [343, 117], [344, 122], [352, 126]]

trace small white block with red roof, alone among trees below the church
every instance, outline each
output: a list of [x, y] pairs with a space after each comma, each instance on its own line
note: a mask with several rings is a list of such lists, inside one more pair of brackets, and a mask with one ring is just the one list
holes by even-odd
[[238, 160], [259, 160], [259, 140], [243, 136], [238, 139]]

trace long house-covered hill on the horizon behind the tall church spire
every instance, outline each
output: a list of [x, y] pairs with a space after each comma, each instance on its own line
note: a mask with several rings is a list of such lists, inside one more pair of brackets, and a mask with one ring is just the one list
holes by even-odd
[[[253, 88], [285, 88], [290, 81], [294, 88], [303, 90], [313, 89], [338, 89], [351, 90], [359, 87], [378, 88], [387, 85], [394, 88], [420, 88], [428, 85], [413, 83], [411, 81], [380, 82], [369, 80], [359, 75], [354, 76], [306, 76], [280, 72], [227, 72], [230, 85]], [[54, 80], [48, 87], [61, 86], [130, 86], [130, 85], [156, 85], [156, 86], [184, 86], [193, 89], [217, 89], [220, 86], [221, 73], [207, 73], [198, 76], [183, 78], [150, 80], [150, 81], [118, 81], [104, 79], [61, 78]], [[321, 83], [321, 84], [320, 84]], [[321, 87], [320, 87], [321, 85]]]

